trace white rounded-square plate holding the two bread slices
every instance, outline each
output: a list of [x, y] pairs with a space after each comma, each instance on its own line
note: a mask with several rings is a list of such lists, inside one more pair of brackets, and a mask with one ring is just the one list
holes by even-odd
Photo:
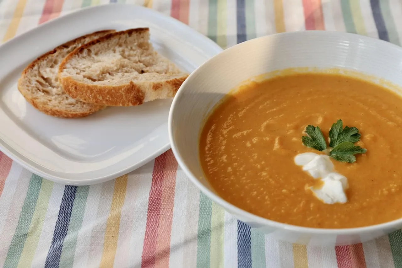
[[142, 6], [94, 6], [51, 20], [0, 46], [0, 149], [43, 178], [76, 185], [117, 178], [169, 149], [172, 100], [59, 119], [37, 111], [17, 90], [23, 68], [57, 45], [102, 29], [136, 27], [149, 27], [156, 51], [189, 73], [222, 51], [180, 21]]

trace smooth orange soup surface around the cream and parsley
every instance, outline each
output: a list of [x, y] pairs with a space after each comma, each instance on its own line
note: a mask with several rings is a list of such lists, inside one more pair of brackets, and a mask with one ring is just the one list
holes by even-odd
[[[307, 125], [325, 138], [332, 123], [357, 127], [367, 149], [353, 164], [331, 161], [347, 177], [347, 203], [324, 204], [295, 165]], [[207, 180], [228, 202], [261, 217], [305, 227], [349, 228], [402, 217], [402, 98], [341, 74], [289, 74], [242, 86], [211, 113], [201, 133]]]

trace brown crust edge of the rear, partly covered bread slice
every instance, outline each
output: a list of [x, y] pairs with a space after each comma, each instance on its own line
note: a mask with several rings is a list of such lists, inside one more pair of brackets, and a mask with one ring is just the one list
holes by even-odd
[[25, 90], [24, 86], [22, 85], [22, 82], [25, 79], [25, 77], [27, 76], [27, 74], [29, 74], [31, 69], [33, 69], [35, 67], [35, 65], [37, 65], [39, 62], [46, 59], [49, 55], [52, 55], [59, 50], [66, 49], [66, 48], [70, 47], [71, 45], [74, 45], [74, 43], [80, 42], [82, 39], [85, 39], [87, 37], [91, 37], [91, 36], [99, 35], [99, 34], [103, 34], [103, 33], [105, 33], [105, 34], [113, 33], [113, 32], [115, 32], [115, 30], [103, 30], [103, 31], [96, 31], [96, 32], [93, 32], [93, 33], [90, 33], [87, 35], [82, 35], [82, 36], [72, 39], [62, 45], [59, 45], [59, 46], [55, 47], [53, 50], [48, 51], [48, 52], [42, 54], [41, 56], [37, 57], [37, 59], [35, 59], [31, 63], [29, 63], [29, 65], [27, 65], [27, 67], [25, 67], [25, 69], [21, 73], [21, 77], [18, 79], [18, 83], [17, 83], [18, 91], [24, 96], [25, 100], [27, 100], [27, 102], [29, 102], [34, 108], [41, 111], [42, 113], [51, 115], [53, 117], [78, 118], [78, 117], [88, 116], [98, 110], [103, 110], [104, 108], [106, 108], [106, 106], [98, 105], [98, 104], [87, 105], [88, 109], [85, 111], [82, 111], [82, 110], [81, 111], [71, 111], [71, 110], [63, 110], [63, 109], [60, 109], [57, 107], [52, 107], [52, 106], [49, 106], [49, 105], [46, 105], [43, 103], [39, 103], [34, 98], [31, 98], [31, 94], [28, 94], [29, 92], [27, 90]]

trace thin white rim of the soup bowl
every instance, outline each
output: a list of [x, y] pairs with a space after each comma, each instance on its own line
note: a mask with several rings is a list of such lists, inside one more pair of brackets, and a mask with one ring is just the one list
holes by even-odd
[[[315, 235], [351, 235], [351, 234], [362, 234], [362, 233], [371, 233], [373, 231], [379, 231], [379, 230], [384, 230], [384, 229], [400, 229], [402, 226], [402, 218], [396, 219], [393, 221], [388, 221], [385, 223], [379, 223], [375, 225], [369, 225], [369, 226], [364, 226], [364, 227], [353, 227], [353, 228], [313, 228], [313, 227], [303, 227], [303, 226], [298, 226], [298, 225], [291, 225], [287, 223], [281, 223], [278, 221], [273, 221], [264, 217], [257, 216], [253, 213], [250, 213], [248, 211], [245, 211], [243, 209], [240, 209], [239, 207], [229, 203], [228, 201], [224, 200], [222, 197], [218, 196], [208, 188], [206, 188], [197, 178], [194, 176], [189, 168], [185, 165], [183, 162], [183, 158], [178, 151], [178, 148], [176, 147], [175, 139], [174, 139], [174, 134], [173, 134], [173, 129], [172, 129], [172, 123], [173, 123], [173, 113], [174, 111], [179, 107], [178, 103], [178, 96], [180, 94], [183, 94], [184, 90], [186, 87], [191, 86], [191, 80], [193, 76], [197, 75], [200, 70], [205, 68], [206, 65], [208, 65], [211, 61], [217, 61], [219, 57], [222, 57], [224, 54], [231, 53], [232, 51], [235, 51], [236, 49], [239, 49], [240, 47], [245, 47], [248, 46], [252, 43], [258, 43], [262, 42], [265, 39], [275, 39], [279, 36], [282, 35], [303, 35], [303, 36], [314, 36], [314, 35], [319, 35], [319, 36], [338, 36], [338, 37], [351, 37], [351, 38], [357, 38], [363, 41], [371, 42], [375, 44], [376, 46], [378, 45], [385, 45], [388, 46], [389, 48], [392, 49], [397, 49], [402, 53], [402, 47], [395, 45], [393, 43], [390, 43], [388, 41], [384, 41], [381, 39], [376, 39], [373, 37], [367, 37], [363, 35], [358, 35], [355, 33], [345, 33], [345, 32], [337, 32], [337, 31], [317, 31], [317, 30], [310, 30], [310, 31], [295, 31], [295, 32], [284, 32], [284, 33], [275, 33], [272, 35], [265, 35], [262, 37], [257, 37], [254, 39], [250, 39], [247, 41], [244, 41], [242, 43], [233, 45], [232, 47], [229, 47], [222, 52], [218, 53], [217, 55], [209, 58], [207, 61], [205, 61], [203, 64], [201, 64], [198, 68], [196, 68], [190, 75], [189, 77], [183, 82], [183, 84], [180, 86], [178, 91], [176, 92], [175, 97], [173, 98], [172, 104], [170, 106], [169, 110], [169, 116], [168, 116], [168, 134], [169, 134], [169, 140], [170, 140], [170, 145], [172, 152], [174, 154], [174, 157], [176, 158], [180, 168], [185, 172], [185, 174], [189, 177], [191, 182], [201, 190], [208, 198], [210, 198], [213, 202], [217, 203], [219, 206], [221, 206], [223, 209], [226, 211], [234, 211], [235, 213], [242, 215], [242, 217], [249, 219], [250, 221], [254, 221], [258, 223], [259, 225], [262, 226], [267, 226], [271, 228], [276, 228], [276, 229], [282, 229], [282, 230], [287, 230], [287, 231], [293, 231], [297, 233], [310, 233], [310, 234], [315, 234]], [[230, 213], [230, 212], [228, 212]], [[232, 213], [230, 213], [232, 214]], [[235, 218], [237, 218], [235, 215], [233, 215]], [[399, 226], [399, 227], [398, 227]], [[384, 233], [386, 235], [386, 233]]]

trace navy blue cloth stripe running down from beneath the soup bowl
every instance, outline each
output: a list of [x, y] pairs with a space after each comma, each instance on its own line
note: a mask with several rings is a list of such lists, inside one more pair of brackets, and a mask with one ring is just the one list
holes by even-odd
[[251, 228], [242, 221], [237, 221], [237, 267], [249, 268], [251, 261]]

